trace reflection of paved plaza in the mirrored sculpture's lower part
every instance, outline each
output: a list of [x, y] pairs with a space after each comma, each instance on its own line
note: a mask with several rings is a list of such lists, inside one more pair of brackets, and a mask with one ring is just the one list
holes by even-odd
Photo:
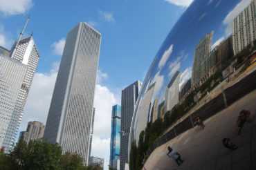
[[[194, 127], [154, 150], [145, 163], [147, 170], [162, 169], [256, 169], [256, 118], [244, 125], [242, 134], [232, 131], [242, 109], [256, 115], [256, 90], [223, 109], [208, 120], [205, 129]], [[222, 139], [231, 138], [238, 149], [231, 151], [223, 147]], [[167, 147], [181, 153], [185, 162], [178, 166], [167, 157]]]

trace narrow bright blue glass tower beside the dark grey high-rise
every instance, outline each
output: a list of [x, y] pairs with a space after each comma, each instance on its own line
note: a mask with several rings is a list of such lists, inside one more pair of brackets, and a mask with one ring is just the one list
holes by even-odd
[[120, 132], [121, 132], [121, 106], [115, 105], [112, 107], [111, 119], [111, 140], [110, 140], [110, 158], [109, 165], [112, 168], [117, 168], [113, 161], [120, 157]]

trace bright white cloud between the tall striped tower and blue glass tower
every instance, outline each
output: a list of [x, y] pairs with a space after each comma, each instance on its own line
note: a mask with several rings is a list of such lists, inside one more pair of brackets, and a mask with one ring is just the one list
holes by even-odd
[[96, 84], [91, 155], [104, 158], [104, 169], [108, 169], [109, 164], [112, 106], [120, 104], [120, 101], [116, 100], [116, 94], [111, 92], [107, 86]]

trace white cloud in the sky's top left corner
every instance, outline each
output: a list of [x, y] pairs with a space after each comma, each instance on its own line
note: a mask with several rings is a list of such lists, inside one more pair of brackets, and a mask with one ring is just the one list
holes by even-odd
[[33, 6], [32, 0], [0, 0], [0, 4], [3, 15], [24, 14]]

